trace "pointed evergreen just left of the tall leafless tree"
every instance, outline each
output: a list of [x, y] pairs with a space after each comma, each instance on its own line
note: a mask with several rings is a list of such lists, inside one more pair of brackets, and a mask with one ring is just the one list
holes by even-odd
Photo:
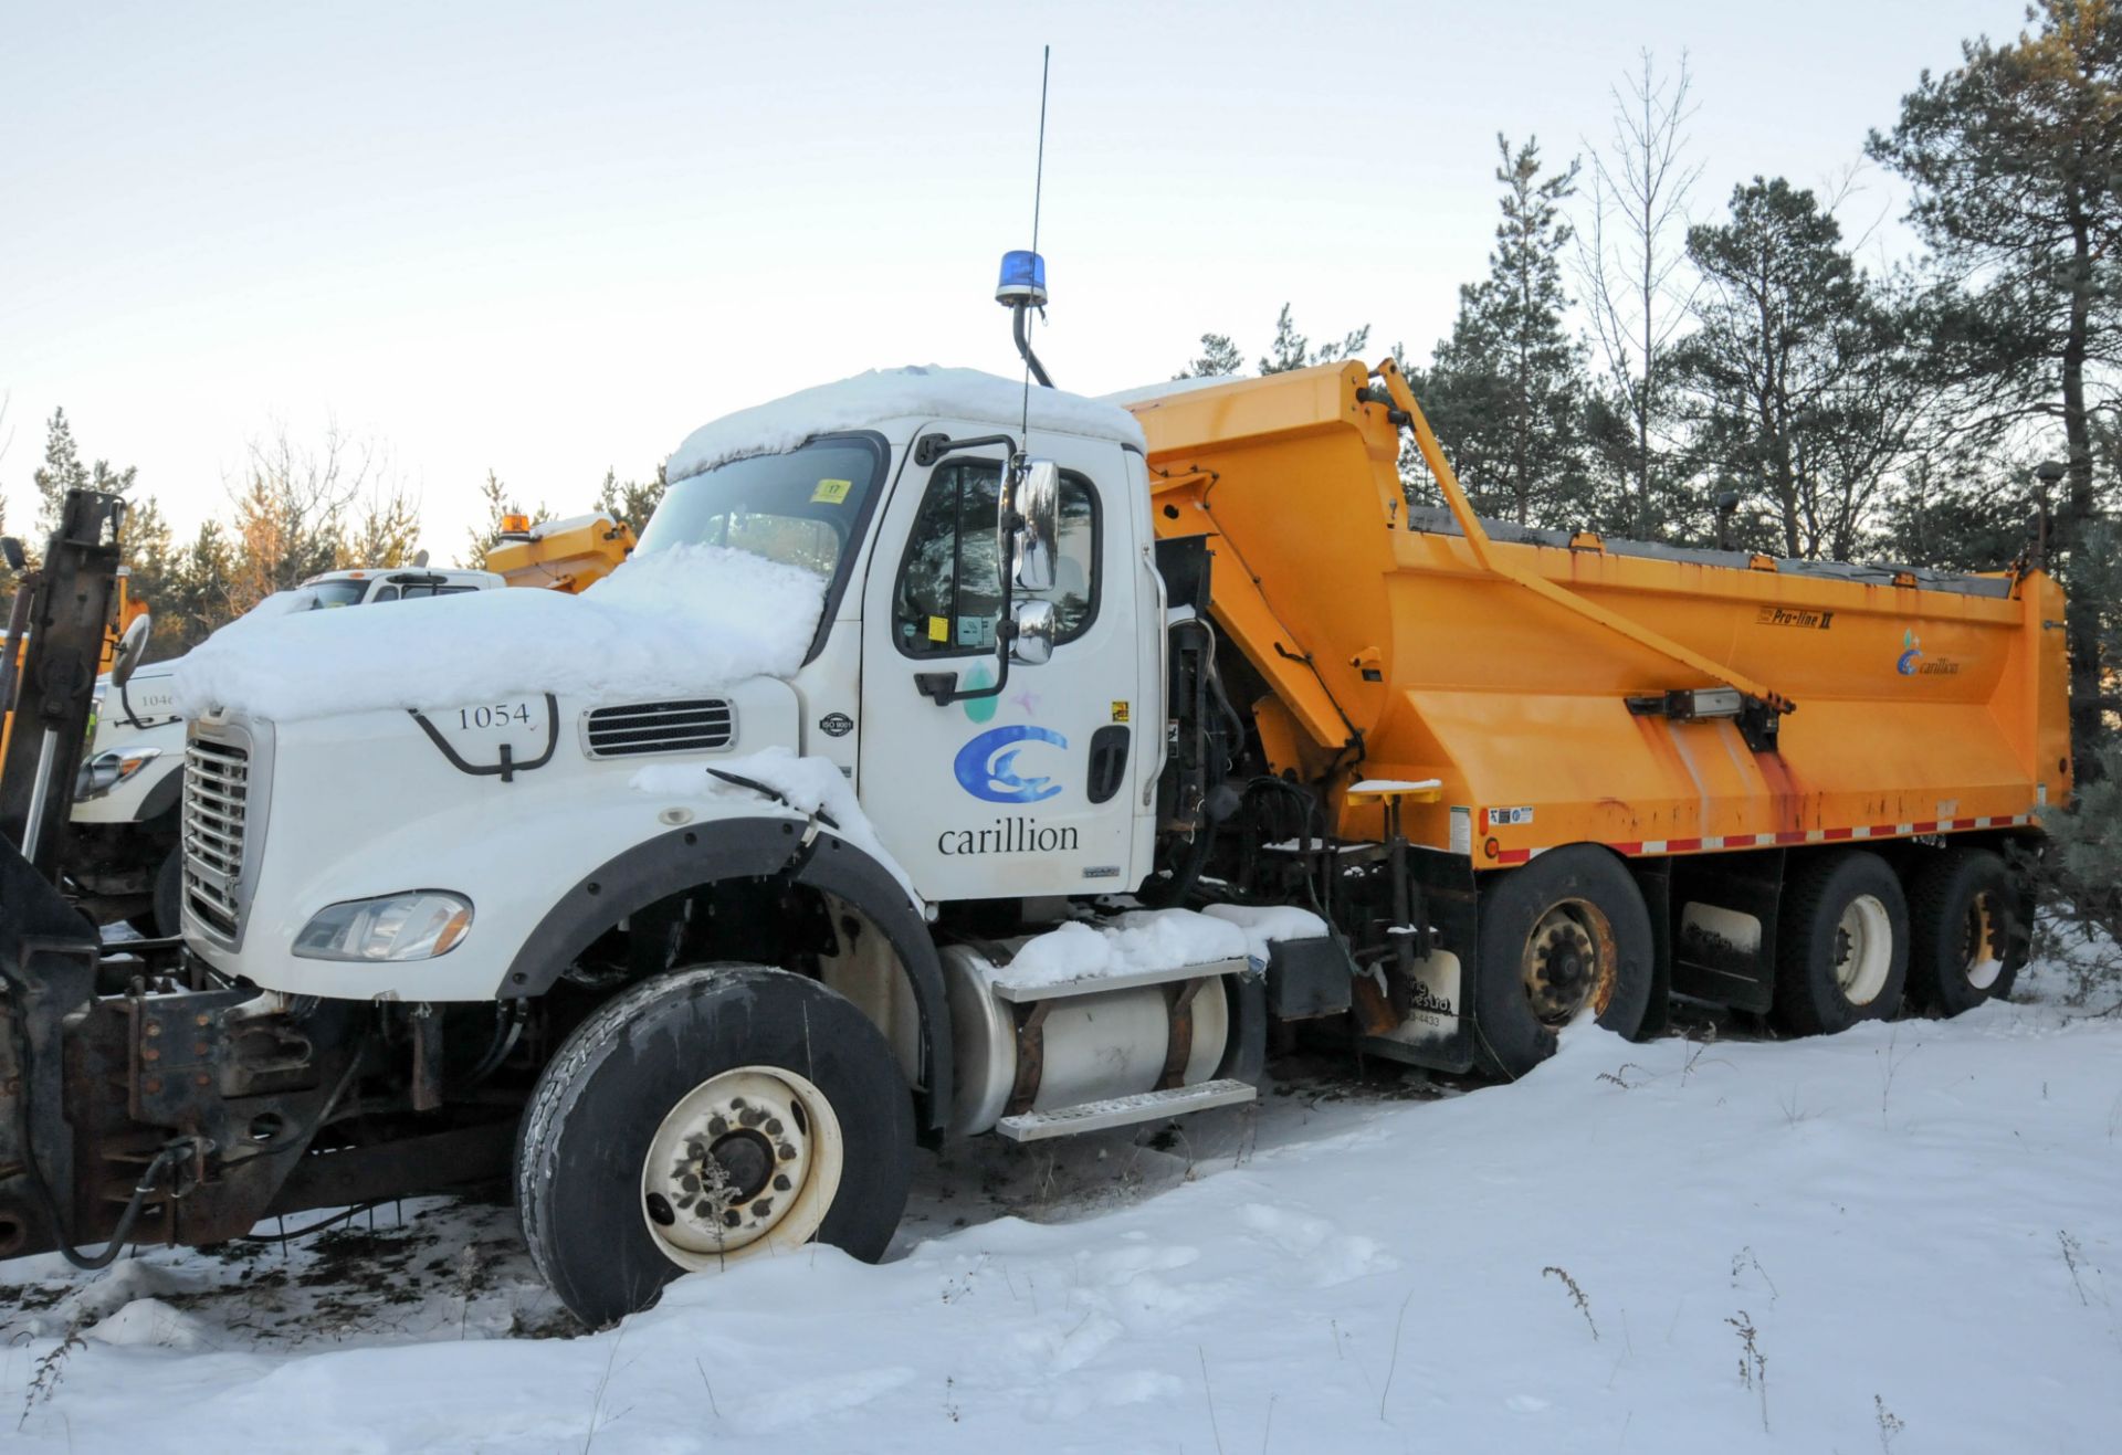
[[1583, 520], [1583, 350], [1562, 327], [1562, 204], [1577, 163], [1543, 176], [1541, 146], [1496, 138], [1502, 221], [1488, 278], [1460, 288], [1451, 337], [1422, 380], [1424, 411], [1451, 469], [1517, 524]]

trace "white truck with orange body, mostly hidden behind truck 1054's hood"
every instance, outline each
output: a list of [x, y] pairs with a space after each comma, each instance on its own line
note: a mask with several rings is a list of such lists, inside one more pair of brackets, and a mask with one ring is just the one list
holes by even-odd
[[[581, 592], [634, 547], [632, 528], [594, 511], [571, 520], [503, 522], [484, 571], [412, 566], [325, 571], [301, 583], [316, 609], [460, 596], [501, 585]], [[127, 611], [125, 626], [144, 609]], [[142, 628], [146, 630], [146, 628]], [[185, 787], [185, 717], [176, 711], [178, 660], [149, 662], [123, 683], [98, 683], [87, 761], [74, 781], [64, 876], [98, 925], [127, 921], [142, 935], [176, 935], [180, 893], [178, 797]], [[106, 662], [108, 668], [108, 662]]]

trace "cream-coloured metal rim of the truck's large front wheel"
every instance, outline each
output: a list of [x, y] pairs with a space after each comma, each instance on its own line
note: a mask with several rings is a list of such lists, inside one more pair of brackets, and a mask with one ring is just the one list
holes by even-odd
[[641, 1220], [681, 1268], [808, 1243], [845, 1154], [840, 1120], [785, 1067], [736, 1067], [685, 1092], [641, 1162]]

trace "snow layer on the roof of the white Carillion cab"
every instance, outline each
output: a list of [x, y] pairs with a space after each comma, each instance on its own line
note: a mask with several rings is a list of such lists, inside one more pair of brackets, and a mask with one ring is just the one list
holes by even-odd
[[[1023, 380], [978, 369], [936, 365], [870, 369], [838, 384], [819, 384], [753, 409], [738, 409], [696, 428], [671, 456], [664, 473], [671, 479], [685, 479], [728, 460], [781, 454], [815, 435], [872, 428], [881, 420], [895, 418], [991, 420], [1014, 431], [1025, 416], [1025, 403]], [[1135, 416], [1097, 399], [1033, 386], [1029, 407], [1031, 428], [1144, 443]]]

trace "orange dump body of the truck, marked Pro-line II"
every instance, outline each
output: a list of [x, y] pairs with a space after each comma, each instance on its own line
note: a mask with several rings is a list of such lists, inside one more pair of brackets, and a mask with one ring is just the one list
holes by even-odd
[[[1330, 787], [1345, 838], [1384, 827], [1373, 802], [1345, 802], [1358, 778], [1439, 781], [1403, 829], [1475, 867], [1575, 842], [1668, 855], [2031, 831], [2065, 800], [2063, 594], [2043, 573], [1494, 522], [1477, 551], [1454, 513], [1405, 505], [1401, 431], [1369, 375], [1326, 365], [1129, 405], [1159, 534], [1210, 539], [1212, 611], [1271, 687], [1254, 704], [1269, 759]], [[1774, 751], [1732, 717], [1628, 706], [1725, 681], [1793, 704]]]

